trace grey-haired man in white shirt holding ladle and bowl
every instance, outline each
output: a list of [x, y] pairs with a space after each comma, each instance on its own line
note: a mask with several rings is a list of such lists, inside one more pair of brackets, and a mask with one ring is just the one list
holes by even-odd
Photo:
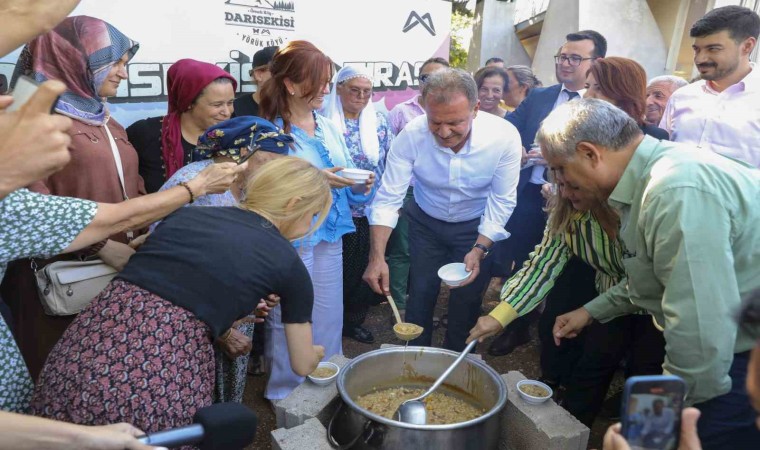
[[[478, 114], [477, 85], [459, 69], [430, 75], [422, 90], [425, 116], [409, 122], [393, 141], [369, 215], [370, 261], [364, 280], [389, 293], [385, 246], [398, 220], [407, 186], [415, 179], [409, 220], [409, 301], [406, 321], [424, 328], [415, 345], [431, 345], [433, 310], [441, 280], [438, 269], [463, 261], [471, 275], [451, 289], [444, 347], [462, 350], [480, 315], [489, 271], [481, 262], [515, 207], [520, 171], [520, 136], [514, 126]], [[487, 261], [487, 260], [486, 260]]]

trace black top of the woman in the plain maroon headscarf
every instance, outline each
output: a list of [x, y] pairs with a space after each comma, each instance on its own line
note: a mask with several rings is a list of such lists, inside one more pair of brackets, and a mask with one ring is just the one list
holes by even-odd
[[[161, 121], [163, 116], [138, 120], [127, 128], [129, 142], [135, 146], [140, 162], [140, 176], [145, 181], [148, 194], [158, 191], [166, 182], [166, 167], [161, 155]], [[190, 164], [195, 144], [182, 139], [185, 153], [184, 165]]]

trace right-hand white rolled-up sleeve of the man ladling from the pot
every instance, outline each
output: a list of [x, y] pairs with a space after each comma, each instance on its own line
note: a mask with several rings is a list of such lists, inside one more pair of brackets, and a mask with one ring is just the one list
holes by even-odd
[[520, 179], [520, 135], [510, 126], [509, 134], [505, 137], [506, 149], [499, 158], [491, 182], [491, 193], [486, 200], [486, 209], [478, 226], [478, 233], [494, 242], [509, 237], [509, 232], [504, 226], [517, 204], [517, 182]]

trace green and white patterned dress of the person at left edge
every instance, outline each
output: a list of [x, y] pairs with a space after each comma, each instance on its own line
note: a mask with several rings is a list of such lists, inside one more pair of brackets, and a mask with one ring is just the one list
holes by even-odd
[[[98, 205], [19, 189], [0, 200], [0, 280], [8, 261], [62, 252], [92, 222]], [[25, 412], [34, 383], [0, 317], [0, 410]]]

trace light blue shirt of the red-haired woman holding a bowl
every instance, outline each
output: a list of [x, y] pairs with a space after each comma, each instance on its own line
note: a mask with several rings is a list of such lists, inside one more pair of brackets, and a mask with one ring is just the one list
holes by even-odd
[[[355, 167], [338, 127], [330, 119], [316, 113], [314, 118], [317, 121], [314, 137], [291, 124], [291, 134], [295, 139], [296, 148], [290, 150], [290, 155], [303, 158], [318, 169]], [[277, 125], [282, 126], [281, 119], [277, 119]], [[348, 187], [331, 189], [331, 191], [333, 204], [327, 218], [314, 233], [294, 242], [296, 247], [299, 245], [315, 246], [322, 241], [336, 242], [344, 234], [355, 232], [356, 228], [351, 218], [350, 205], [367, 203], [374, 194], [374, 188], [373, 192], [366, 195], [354, 193]]]

